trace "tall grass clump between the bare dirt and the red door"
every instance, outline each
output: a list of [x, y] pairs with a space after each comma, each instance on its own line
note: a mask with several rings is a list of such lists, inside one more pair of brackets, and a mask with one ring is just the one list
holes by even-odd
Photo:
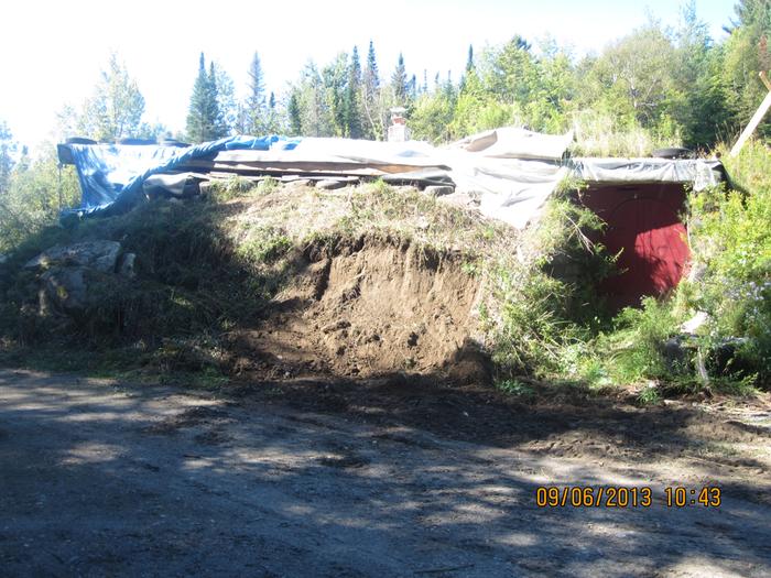
[[613, 259], [591, 241], [602, 221], [571, 198], [579, 188], [564, 184], [525, 231], [519, 253], [486, 272], [489, 298], [480, 318], [501, 380], [564, 375], [571, 351], [604, 323], [593, 287]]

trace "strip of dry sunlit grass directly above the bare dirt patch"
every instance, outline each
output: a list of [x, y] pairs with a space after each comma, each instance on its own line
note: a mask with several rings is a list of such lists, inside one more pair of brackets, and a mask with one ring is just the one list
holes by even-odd
[[325, 237], [381, 232], [423, 247], [491, 257], [513, 254], [518, 241], [515, 229], [485, 219], [474, 209], [383, 183], [337, 190], [279, 186], [269, 194], [253, 189], [229, 203], [245, 201], [248, 206], [225, 227], [237, 246], [259, 243], [265, 235], [297, 246]]

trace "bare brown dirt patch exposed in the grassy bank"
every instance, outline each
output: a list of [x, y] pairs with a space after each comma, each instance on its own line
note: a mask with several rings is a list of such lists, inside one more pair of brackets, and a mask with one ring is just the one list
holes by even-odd
[[313, 243], [301, 261], [269, 315], [239, 336], [241, 369], [486, 379], [474, 340], [480, 281], [460, 254], [362, 237]]

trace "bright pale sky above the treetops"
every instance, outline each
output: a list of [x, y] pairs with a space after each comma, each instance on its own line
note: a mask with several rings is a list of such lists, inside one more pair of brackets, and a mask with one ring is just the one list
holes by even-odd
[[[734, 17], [736, 0], [695, 0], [713, 37]], [[400, 52], [410, 74], [426, 69], [454, 77], [468, 45], [476, 51], [514, 34], [534, 42], [552, 36], [576, 57], [652, 15], [664, 25], [680, 18], [677, 0], [7, 0], [0, 8], [0, 120], [17, 140], [51, 138], [56, 112], [79, 108], [94, 90], [110, 52], [126, 63], [145, 99], [148, 122], [183, 130], [203, 51], [246, 92], [257, 51], [268, 90], [285, 91], [304, 64], [326, 64], [341, 51], [374, 42], [378, 65], [390, 75]], [[240, 95], [239, 95], [240, 96]]]

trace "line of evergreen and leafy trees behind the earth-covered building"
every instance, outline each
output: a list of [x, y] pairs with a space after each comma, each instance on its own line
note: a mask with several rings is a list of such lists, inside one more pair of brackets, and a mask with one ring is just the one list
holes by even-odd
[[[758, 73], [771, 68], [771, 3], [741, 0], [726, 29], [726, 40], [715, 42], [691, 1], [677, 25], [650, 20], [579, 59], [554, 41], [533, 44], [519, 35], [478, 54], [469, 46], [457, 79], [449, 73], [430, 78], [427, 70], [419, 79], [402, 54], [382, 75], [370, 41], [363, 62], [357, 46], [325, 65], [308, 61], [281, 95], [265, 88], [256, 52], [242, 99], [228, 73], [200, 54], [186, 127], [174, 137], [382, 140], [389, 110], [404, 107], [413, 138], [434, 143], [514, 124], [544, 132], [574, 128], [598, 154], [639, 154], [655, 143], [708, 149], [731, 139], [763, 98]], [[64, 133], [97, 140], [171, 135], [162, 124], [143, 122], [144, 106], [135, 80], [112, 55], [94, 95], [79, 109], [66, 107], [59, 120]], [[761, 133], [769, 131], [764, 123]], [[630, 146], [634, 139], [643, 143], [639, 151]], [[9, 140], [0, 132], [0, 143]], [[9, 170], [0, 164], [0, 171], [1, 179]]]

